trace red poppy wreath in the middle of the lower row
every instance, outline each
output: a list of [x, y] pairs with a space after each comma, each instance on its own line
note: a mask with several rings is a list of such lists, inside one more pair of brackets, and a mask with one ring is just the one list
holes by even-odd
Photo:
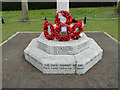
[[[61, 27], [62, 26], [67, 26], [67, 35], [65, 36], [62, 36], [60, 34], [61, 32]], [[69, 25], [67, 24], [64, 24], [64, 23], [61, 23], [60, 25], [58, 25], [56, 28], [55, 28], [55, 37], [57, 40], [59, 41], [69, 41], [70, 40], [70, 33], [71, 33], [71, 28]]]

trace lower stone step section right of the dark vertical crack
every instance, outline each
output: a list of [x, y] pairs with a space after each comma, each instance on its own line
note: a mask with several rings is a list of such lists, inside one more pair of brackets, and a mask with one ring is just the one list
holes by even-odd
[[102, 58], [103, 50], [93, 39], [90, 39], [89, 42], [90, 45], [88, 49], [75, 55], [77, 74], [84, 74]]

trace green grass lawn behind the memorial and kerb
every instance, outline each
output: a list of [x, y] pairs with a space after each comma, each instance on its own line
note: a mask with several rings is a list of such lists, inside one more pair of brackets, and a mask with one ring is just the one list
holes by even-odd
[[[114, 14], [114, 7], [70, 8], [70, 13], [73, 18], [83, 18], [85, 15], [88, 18], [118, 17]], [[56, 9], [29, 10], [30, 19], [41, 19], [47, 16], [48, 18], [52, 18], [49, 19], [49, 22], [52, 24], [54, 24], [55, 15]], [[2, 16], [7, 19], [20, 20], [21, 11], [3, 11]], [[2, 41], [6, 40], [18, 31], [43, 31], [43, 19], [29, 22], [20, 22], [7, 19], [5, 19], [5, 24], [2, 25]], [[118, 19], [87, 19], [87, 24], [84, 26], [84, 31], [105, 31], [114, 38], [118, 39]]]

